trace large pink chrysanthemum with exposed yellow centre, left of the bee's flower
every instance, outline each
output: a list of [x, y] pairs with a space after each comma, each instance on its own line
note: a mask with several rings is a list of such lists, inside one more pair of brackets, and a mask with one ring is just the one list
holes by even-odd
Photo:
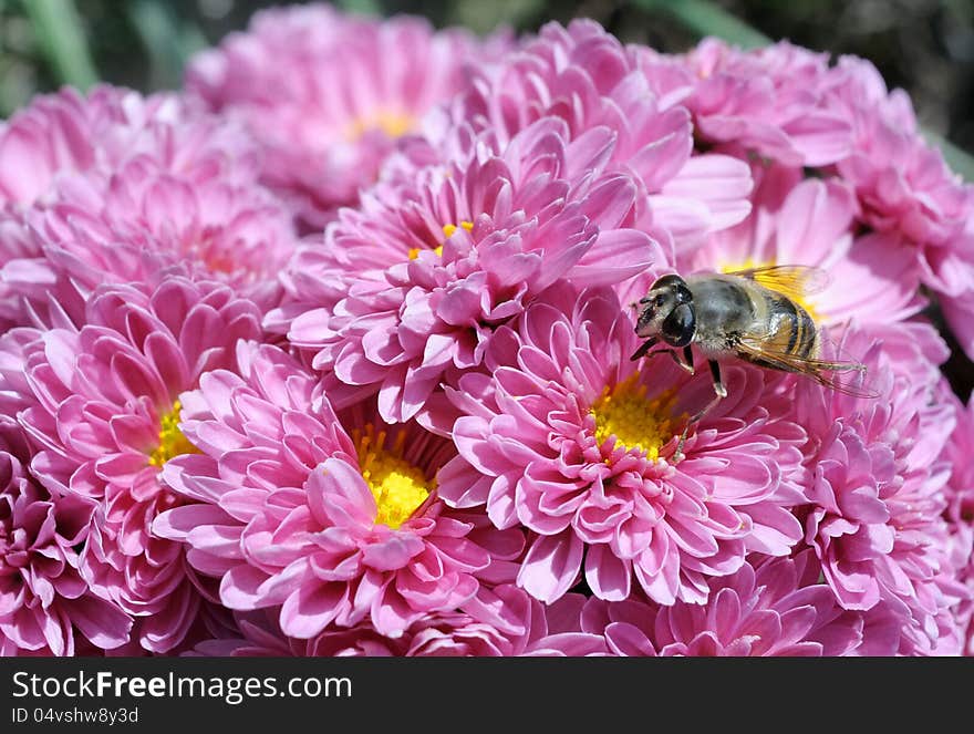
[[183, 395], [180, 426], [201, 453], [174, 458], [164, 476], [196, 502], [154, 524], [221, 579], [224, 604], [280, 606], [281, 629], [300, 639], [363, 620], [396, 637], [473, 598], [491, 559], [521, 552], [518, 531], [438, 500], [448, 441], [361, 406], [340, 422], [277, 348], [241, 344], [238, 360], [239, 375], [214, 371]]

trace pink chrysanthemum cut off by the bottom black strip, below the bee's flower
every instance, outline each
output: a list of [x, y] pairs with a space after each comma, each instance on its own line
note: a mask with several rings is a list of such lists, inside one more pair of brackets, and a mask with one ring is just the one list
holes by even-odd
[[894, 618], [842, 609], [810, 551], [713, 579], [705, 604], [592, 598], [580, 617], [626, 657], [892, 655], [900, 640]]

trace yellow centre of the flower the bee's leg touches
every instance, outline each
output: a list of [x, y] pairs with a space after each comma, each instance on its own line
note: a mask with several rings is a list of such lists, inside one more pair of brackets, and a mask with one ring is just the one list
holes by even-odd
[[646, 458], [660, 458], [660, 449], [673, 437], [675, 391], [667, 390], [653, 400], [646, 397], [646, 386], [639, 383], [639, 373], [605, 387], [590, 413], [595, 417], [595, 441], [601, 446], [610, 436], [615, 445], [635, 448]]

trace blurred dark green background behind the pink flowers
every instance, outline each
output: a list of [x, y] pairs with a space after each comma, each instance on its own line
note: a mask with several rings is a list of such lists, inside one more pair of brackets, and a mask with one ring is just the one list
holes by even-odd
[[[143, 92], [180, 85], [186, 59], [250, 15], [261, 0], [0, 0], [0, 117], [64, 83], [97, 80]], [[974, 0], [344, 0], [377, 15], [412, 13], [434, 25], [485, 33], [535, 31], [587, 17], [626, 42], [681, 52], [713, 34], [742, 46], [787, 39], [871, 60], [887, 84], [909, 92], [929, 138], [974, 182]], [[947, 142], [950, 141], [950, 142]], [[940, 314], [929, 316], [942, 327]], [[942, 329], [951, 340], [950, 333]], [[962, 397], [974, 365], [955, 343], [945, 372]]]

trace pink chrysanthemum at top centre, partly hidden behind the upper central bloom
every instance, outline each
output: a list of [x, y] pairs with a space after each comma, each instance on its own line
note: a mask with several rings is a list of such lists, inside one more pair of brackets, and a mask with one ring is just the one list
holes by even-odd
[[649, 195], [640, 226], [691, 246], [747, 215], [750, 175], [734, 157], [691, 157], [687, 111], [654, 93], [638, 58], [593, 21], [547, 23], [496, 70], [479, 71], [452, 114], [501, 141], [545, 116], [564, 120], [570, 139], [612, 131], [610, 167], [631, 174]]

